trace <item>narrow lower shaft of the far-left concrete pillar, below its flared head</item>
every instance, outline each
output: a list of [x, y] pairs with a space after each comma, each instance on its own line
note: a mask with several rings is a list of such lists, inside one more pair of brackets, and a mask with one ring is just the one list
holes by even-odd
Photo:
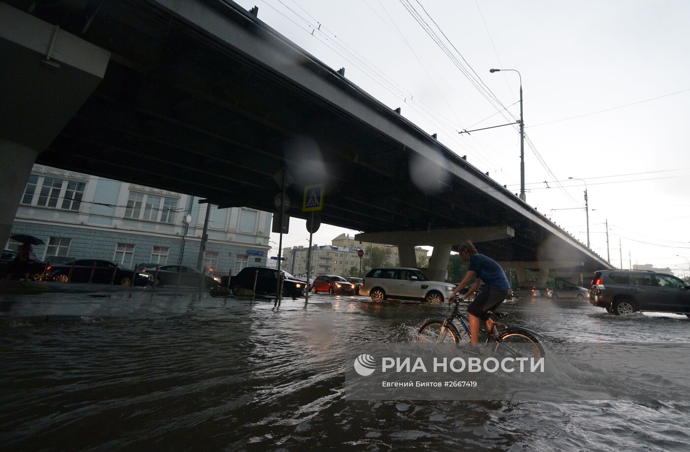
[[0, 139], [0, 161], [5, 162], [0, 171], [0, 187], [3, 194], [0, 197], [0, 244], [5, 246], [10, 229], [17, 215], [17, 208], [21, 202], [21, 196], [26, 188], [34, 160], [39, 153], [21, 144]]

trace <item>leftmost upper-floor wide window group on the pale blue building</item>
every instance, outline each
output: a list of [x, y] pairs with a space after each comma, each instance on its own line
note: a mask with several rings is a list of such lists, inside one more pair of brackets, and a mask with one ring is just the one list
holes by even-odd
[[[41, 190], [37, 191], [39, 185]], [[24, 195], [21, 197], [21, 204], [58, 208], [58, 202], [62, 199], [59, 208], [79, 210], [85, 188], [86, 184], [84, 182], [67, 181], [57, 179], [57, 177], [32, 174], [26, 182]]]

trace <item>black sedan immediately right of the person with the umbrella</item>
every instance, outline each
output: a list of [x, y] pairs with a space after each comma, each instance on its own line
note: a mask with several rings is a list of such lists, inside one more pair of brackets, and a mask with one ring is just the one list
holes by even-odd
[[[74, 264], [73, 267], [72, 264]], [[48, 279], [56, 282], [89, 282], [92, 272], [91, 282], [99, 284], [110, 284], [112, 281], [113, 284], [132, 286], [132, 275], [135, 286], [148, 286], [153, 283], [153, 277], [148, 273], [143, 271], [135, 273], [134, 270], [120, 268], [115, 262], [103, 259], [74, 259], [57, 265], [49, 265]]]

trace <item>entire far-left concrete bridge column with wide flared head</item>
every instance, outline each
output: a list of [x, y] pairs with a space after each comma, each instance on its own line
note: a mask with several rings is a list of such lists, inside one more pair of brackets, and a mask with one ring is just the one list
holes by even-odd
[[36, 157], [101, 83], [109, 59], [110, 52], [0, 3], [1, 244]]

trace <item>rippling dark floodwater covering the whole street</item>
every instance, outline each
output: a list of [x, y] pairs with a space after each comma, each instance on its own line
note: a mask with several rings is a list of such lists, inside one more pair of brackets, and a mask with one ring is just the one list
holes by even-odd
[[[351, 402], [344, 356], [444, 306], [121, 291], [0, 295], [4, 450], [687, 450], [688, 400]], [[680, 315], [506, 302], [551, 342], [689, 342]], [[509, 320], [509, 321], [508, 321]], [[596, 382], [593, 382], [595, 384]], [[661, 399], [662, 397], [660, 397]]]

